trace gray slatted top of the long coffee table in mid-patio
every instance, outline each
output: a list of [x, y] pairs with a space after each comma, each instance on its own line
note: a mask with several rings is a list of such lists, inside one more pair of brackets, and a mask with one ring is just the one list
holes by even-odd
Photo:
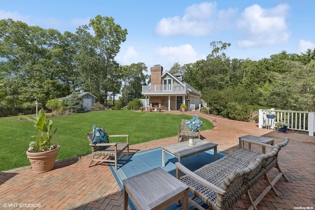
[[173, 143], [167, 146], [162, 146], [162, 149], [174, 154], [176, 157], [186, 157], [190, 154], [195, 154], [202, 151], [207, 151], [213, 149], [218, 144], [209, 141], [194, 139], [194, 146], [189, 146], [188, 141], [181, 141], [178, 143]]

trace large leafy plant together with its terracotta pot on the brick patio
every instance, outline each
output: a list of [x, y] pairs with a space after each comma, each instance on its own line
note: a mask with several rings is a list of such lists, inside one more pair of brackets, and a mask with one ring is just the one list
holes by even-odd
[[31, 121], [39, 131], [39, 135], [32, 136], [36, 140], [30, 142], [29, 149], [26, 152], [32, 169], [35, 173], [48, 172], [54, 168], [60, 150], [60, 145], [51, 142], [57, 128], [52, 129], [53, 121], [46, 119], [46, 114], [42, 109], [39, 110], [36, 118], [25, 118]]

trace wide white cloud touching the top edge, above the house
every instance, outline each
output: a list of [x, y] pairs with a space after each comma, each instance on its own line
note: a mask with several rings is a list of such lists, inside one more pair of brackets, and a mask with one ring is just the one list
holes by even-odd
[[217, 9], [217, 2], [202, 2], [186, 8], [183, 17], [163, 18], [158, 22], [158, 35], [212, 35], [229, 26], [236, 9]]

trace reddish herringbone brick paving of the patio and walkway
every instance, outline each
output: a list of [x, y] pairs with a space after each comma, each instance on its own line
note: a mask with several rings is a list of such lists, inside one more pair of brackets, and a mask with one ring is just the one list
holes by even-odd
[[[177, 111], [164, 112], [177, 113]], [[279, 154], [279, 165], [291, 182], [281, 177], [276, 183], [279, 197], [270, 191], [257, 206], [258, 210], [294, 210], [300, 207], [315, 208], [315, 137], [288, 131], [258, 129], [256, 124], [233, 121], [199, 112], [188, 111], [209, 120], [217, 120], [212, 130], [202, 131], [204, 140], [218, 143], [218, 150], [231, 153], [238, 149], [238, 137], [265, 136], [280, 142], [289, 137], [290, 142]], [[163, 113], [161, 113], [163, 114]], [[146, 150], [177, 142], [177, 137], [155, 140], [130, 146], [130, 152]], [[261, 149], [256, 148], [254, 149]], [[107, 165], [87, 168], [89, 157], [58, 161], [47, 173], [34, 174], [30, 167], [0, 173], [0, 210], [9, 209], [66, 209], [66, 210], [122, 210], [123, 197], [114, 175]], [[270, 171], [275, 176], [274, 170]], [[251, 189], [254, 198], [264, 190], [260, 180]], [[7, 207], [6, 205], [13, 205]], [[38, 207], [37, 207], [38, 206]], [[37, 207], [37, 208], [36, 208]], [[246, 197], [233, 209], [247, 209]]]

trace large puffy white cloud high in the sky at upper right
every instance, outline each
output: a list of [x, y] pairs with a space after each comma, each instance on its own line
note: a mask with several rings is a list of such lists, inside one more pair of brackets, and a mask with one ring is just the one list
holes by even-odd
[[287, 4], [271, 9], [263, 9], [258, 4], [247, 7], [236, 23], [243, 36], [238, 40], [238, 46], [268, 46], [288, 42], [290, 31], [285, 22], [288, 10]]

